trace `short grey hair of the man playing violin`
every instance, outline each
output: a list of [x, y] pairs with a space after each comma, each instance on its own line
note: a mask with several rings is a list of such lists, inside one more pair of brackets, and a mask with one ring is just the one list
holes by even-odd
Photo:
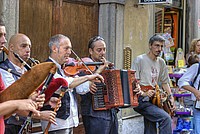
[[62, 35], [62, 34], [56, 34], [56, 35], [54, 35], [50, 38], [50, 41], [49, 41], [50, 53], [52, 52], [52, 46], [53, 45], [56, 45], [57, 48], [60, 47], [60, 40], [63, 39], [63, 38], [69, 39], [67, 36]]

